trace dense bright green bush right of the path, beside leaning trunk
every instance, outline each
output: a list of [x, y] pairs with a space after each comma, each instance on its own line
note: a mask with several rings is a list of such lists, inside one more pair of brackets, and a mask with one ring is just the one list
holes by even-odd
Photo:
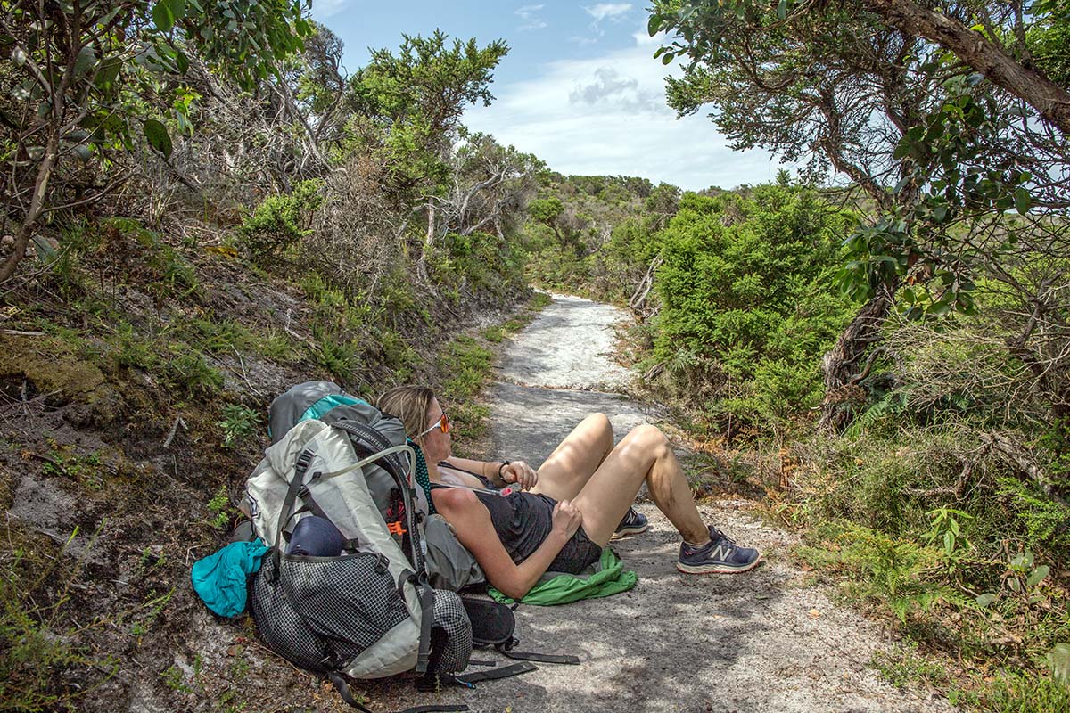
[[700, 424], [779, 435], [820, 399], [819, 358], [851, 310], [831, 286], [849, 220], [800, 188], [684, 197], [658, 236], [646, 366]]

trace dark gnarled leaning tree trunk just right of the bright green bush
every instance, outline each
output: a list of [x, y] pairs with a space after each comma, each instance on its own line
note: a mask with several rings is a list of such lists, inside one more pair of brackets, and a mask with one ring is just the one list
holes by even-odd
[[825, 400], [817, 424], [839, 432], [847, 423], [865, 394], [858, 383], [869, 375], [872, 359], [862, 363], [862, 357], [881, 340], [881, 327], [895, 304], [895, 292], [882, 284], [876, 294], [866, 303], [855, 319], [836, 341], [832, 351], [821, 360], [825, 374]]

